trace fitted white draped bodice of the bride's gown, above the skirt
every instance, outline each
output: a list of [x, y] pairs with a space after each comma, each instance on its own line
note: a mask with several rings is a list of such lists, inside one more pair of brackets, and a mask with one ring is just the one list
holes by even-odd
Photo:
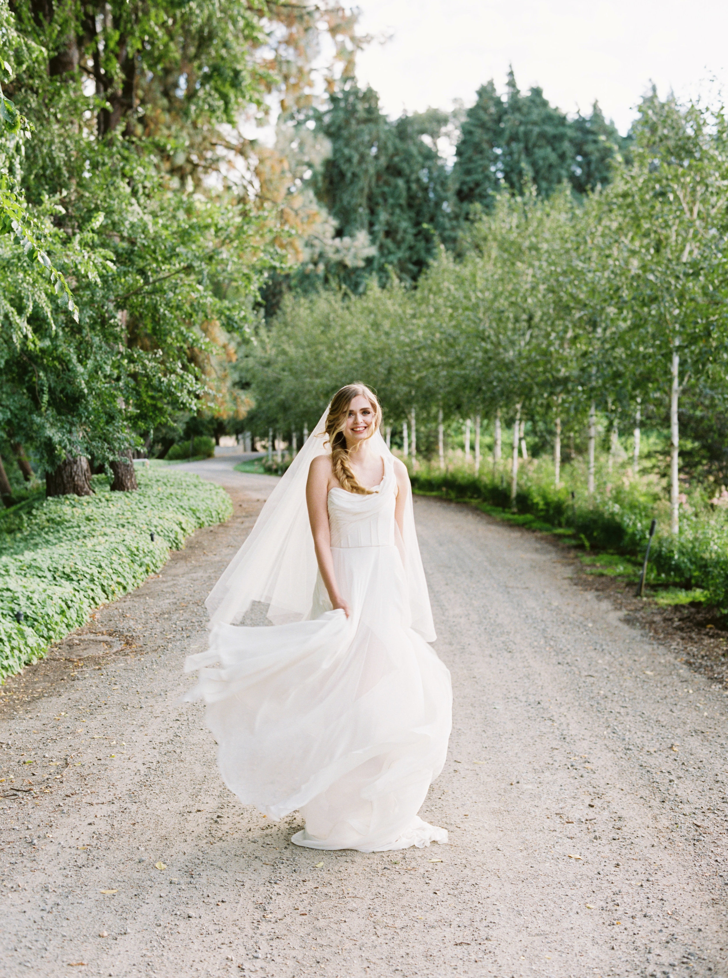
[[396, 479], [391, 458], [385, 459], [385, 475], [377, 490], [366, 496], [329, 490], [328, 510], [331, 546], [393, 547]]

